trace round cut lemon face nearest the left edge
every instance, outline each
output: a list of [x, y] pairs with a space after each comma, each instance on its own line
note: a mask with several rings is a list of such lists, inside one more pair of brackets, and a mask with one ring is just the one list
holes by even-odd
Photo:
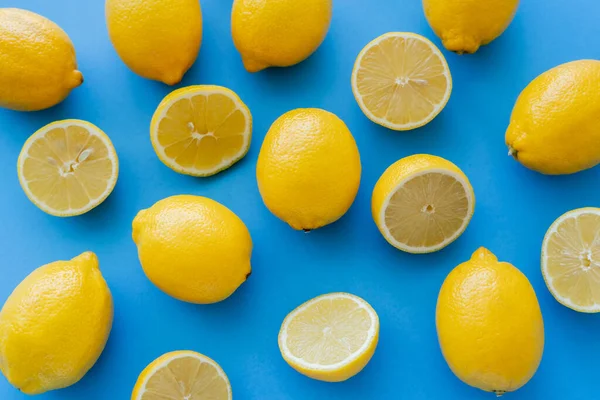
[[81, 215], [102, 203], [119, 175], [112, 142], [81, 120], [51, 123], [25, 142], [17, 161], [21, 187], [51, 215]]

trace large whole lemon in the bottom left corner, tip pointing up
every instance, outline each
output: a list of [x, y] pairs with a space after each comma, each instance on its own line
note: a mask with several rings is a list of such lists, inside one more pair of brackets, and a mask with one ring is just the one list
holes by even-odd
[[112, 321], [112, 296], [94, 253], [44, 265], [0, 311], [0, 371], [27, 394], [73, 385], [100, 357]]

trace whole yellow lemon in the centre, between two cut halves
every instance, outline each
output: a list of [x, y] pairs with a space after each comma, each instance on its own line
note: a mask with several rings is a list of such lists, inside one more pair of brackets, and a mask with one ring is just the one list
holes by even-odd
[[256, 166], [267, 208], [294, 229], [330, 224], [348, 211], [360, 184], [354, 137], [336, 115], [317, 108], [279, 117]]

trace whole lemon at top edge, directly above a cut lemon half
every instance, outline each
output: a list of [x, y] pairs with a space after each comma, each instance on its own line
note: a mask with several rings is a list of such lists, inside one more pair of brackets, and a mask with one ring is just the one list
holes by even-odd
[[106, 0], [106, 25], [133, 72], [167, 85], [181, 81], [202, 43], [198, 0]]

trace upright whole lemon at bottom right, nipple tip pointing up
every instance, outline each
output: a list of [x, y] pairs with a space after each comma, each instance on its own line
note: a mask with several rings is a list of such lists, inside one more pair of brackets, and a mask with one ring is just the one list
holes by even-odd
[[448, 366], [468, 385], [512, 392], [540, 365], [544, 322], [533, 287], [483, 247], [444, 281], [436, 325]]

